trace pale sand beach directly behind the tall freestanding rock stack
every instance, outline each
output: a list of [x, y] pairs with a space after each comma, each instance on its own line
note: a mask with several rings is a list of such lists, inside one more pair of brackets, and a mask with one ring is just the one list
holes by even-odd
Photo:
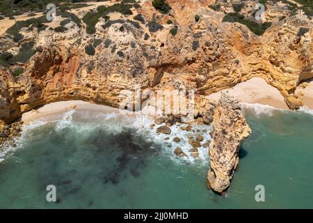
[[[228, 92], [243, 103], [257, 103], [261, 105], [269, 105], [278, 109], [288, 109], [280, 91], [267, 84], [266, 81], [260, 77], [253, 77], [246, 82], [237, 84], [232, 87], [232, 89], [225, 89], [222, 91]], [[209, 98], [217, 101], [220, 98], [220, 93], [222, 91], [212, 93], [209, 95]]]

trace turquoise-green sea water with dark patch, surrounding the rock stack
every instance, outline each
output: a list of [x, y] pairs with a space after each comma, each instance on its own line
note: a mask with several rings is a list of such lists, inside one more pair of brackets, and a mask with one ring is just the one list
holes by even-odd
[[[0, 208], [313, 208], [313, 115], [245, 116], [252, 134], [225, 198], [207, 190], [205, 160], [179, 160], [119, 120], [72, 121], [28, 130], [0, 163]], [[265, 202], [255, 201], [256, 185]]]

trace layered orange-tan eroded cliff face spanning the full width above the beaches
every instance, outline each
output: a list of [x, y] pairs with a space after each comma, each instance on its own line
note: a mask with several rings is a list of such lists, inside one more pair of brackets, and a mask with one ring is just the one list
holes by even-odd
[[[222, 4], [219, 11], [209, 8], [216, 2]], [[241, 13], [250, 16], [256, 2], [245, 1]], [[120, 1], [104, 2], [113, 3]], [[109, 20], [99, 18], [94, 34], [86, 33], [83, 22], [69, 22], [63, 32], [29, 26], [20, 29], [21, 40], [1, 36], [1, 54], [19, 57], [25, 43], [33, 43], [29, 50], [34, 52], [26, 62], [15, 59], [0, 69], [1, 121], [9, 123], [23, 112], [58, 100], [118, 107], [121, 91], [133, 91], [138, 84], [141, 90], [192, 89], [199, 98], [255, 76], [277, 87], [289, 107], [302, 105], [294, 91], [313, 77], [312, 20], [268, 4], [266, 20], [273, 24], [257, 36], [243, 24], [223, 22], [226, 13], [234, 12], [232, 1], [168, 3], [170, 14], [160, 13], [151, 1], [131, 8], [132, 15], [109, 13]], [[86, 13], [81, 10], [77, 16], [82, 20]], [[143, 19], [135, 20], [136, 15]], [[200, 15], [198, 22], [195, 15]], [[285, 18], [279, 21], [282, 15]], [[57, 16], [56, 23], [65, 19]], [[299, 34], [300, 28], [305, 32]], [[86, 50], [88, 45], [95, 52]], [[13, 76], [17, 67], [23, 68], [18, 77]]]

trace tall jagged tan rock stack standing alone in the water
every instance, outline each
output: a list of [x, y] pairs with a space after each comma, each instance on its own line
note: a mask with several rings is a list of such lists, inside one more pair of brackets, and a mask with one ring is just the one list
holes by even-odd
[[225, 93], [215, 109], [213, 125], [207, 187], [221, 194], [230, 186], [239, 164], [241, 144], [250, 135], [251, 129], [243, 117], [239, 101]]

